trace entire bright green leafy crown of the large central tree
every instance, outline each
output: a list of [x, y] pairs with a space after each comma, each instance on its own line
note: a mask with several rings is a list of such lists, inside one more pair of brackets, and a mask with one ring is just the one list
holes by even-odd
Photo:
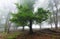
[[36, 21], [37, 23], [41, 23], [48, 19], [49, 17], [49, 11], [44, 10], [43, 8], [39, 8], [37, 13], [33, 13], [33, 11], [30, 9], [28, 5], [18, 5], [16, 4], [18, 12], [16, 14], [12, 14], [11, 22], [16, 23], [20, 26], [26, 26], [29, 25], [28, 22], [30, 20]]

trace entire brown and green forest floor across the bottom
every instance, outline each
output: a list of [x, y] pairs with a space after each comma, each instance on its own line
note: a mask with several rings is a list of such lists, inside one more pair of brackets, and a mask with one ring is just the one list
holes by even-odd
[[60, 39], [60, 30], [42, 29], [29, 34], [28, 31], [0, 34], [0, 39]]

